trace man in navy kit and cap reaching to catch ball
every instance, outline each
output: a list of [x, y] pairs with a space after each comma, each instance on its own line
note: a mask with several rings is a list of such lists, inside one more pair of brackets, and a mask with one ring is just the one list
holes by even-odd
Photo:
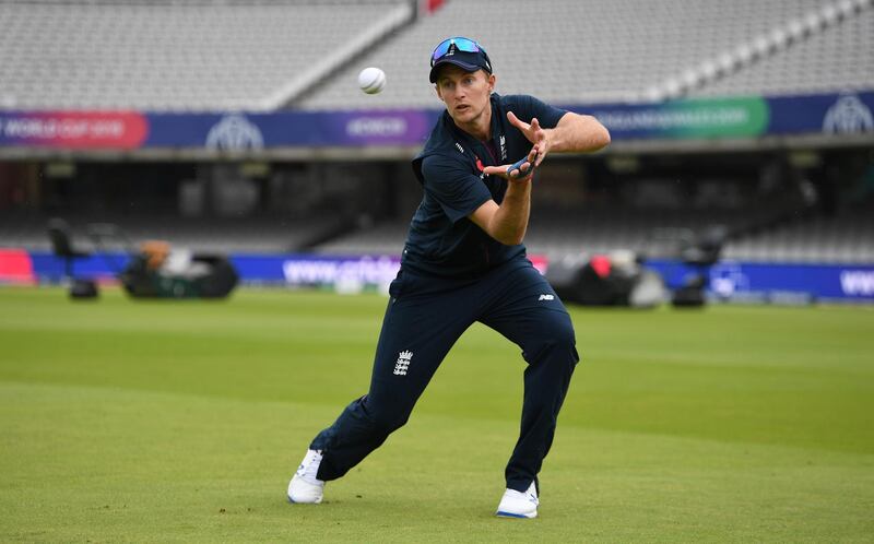
[[430, 64], [446, 111], [413, 161], [424, 196], [389, 288], [370, 389], [312, 440], [288, 499], [320, 502], [324, 482], [406, 423], [447, 352], [480, 321], [518, 344], [528, 363], [521, 434], [497, 515], [534, 518], [538, 473], [579, 356], [570, 317], [521, 244], [533, 173], [550, 152], [595, 151], [610, 134], [592, 117], [494, 94], [492, 62], [471, 39], [444, 40]]

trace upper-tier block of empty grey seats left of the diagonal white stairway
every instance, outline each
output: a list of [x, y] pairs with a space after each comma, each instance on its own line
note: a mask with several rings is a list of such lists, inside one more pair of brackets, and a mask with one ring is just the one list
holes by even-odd
[[397, 0], [7, 0], [0, 108], [271, 110], [412, 14]]

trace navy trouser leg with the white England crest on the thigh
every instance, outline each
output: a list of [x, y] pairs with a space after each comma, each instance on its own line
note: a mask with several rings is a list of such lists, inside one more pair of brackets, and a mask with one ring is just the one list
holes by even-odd
[[323, 451], [319, 480], [343, 476], [406, 423], [440, 362], [473, 322], [473, 311], [464, 311], [457, 295], [406, 296], [402, 286], [411, 281], [392, 287], [369, 391], [310, 445]]

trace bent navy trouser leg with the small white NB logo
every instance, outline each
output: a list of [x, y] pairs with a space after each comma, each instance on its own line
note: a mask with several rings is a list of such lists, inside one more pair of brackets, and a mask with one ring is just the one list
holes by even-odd
[[481, 321], [518, 344], [528, 363], [519, 440], [505, 471], [507, 487], [524, 492], [550, 451], [579, 355], [570, 316], [536, 270], [512, 270], [498, 284]]

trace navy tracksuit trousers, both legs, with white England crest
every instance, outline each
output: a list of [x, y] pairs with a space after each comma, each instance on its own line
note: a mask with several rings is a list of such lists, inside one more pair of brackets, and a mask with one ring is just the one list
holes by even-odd
[[555, 291], [523, 258], [476, 280], [445, 280], [401, 270], [389, 289], [370, 390], [310, 445], [322, 450], [317, 477], [335, 480], [406, 423], [446, 354], [475, 321], [522, 348], [522, 425], [505, 476], [524, 492], [550, 451], [556, 418], [579, 360], [574, 327]]

